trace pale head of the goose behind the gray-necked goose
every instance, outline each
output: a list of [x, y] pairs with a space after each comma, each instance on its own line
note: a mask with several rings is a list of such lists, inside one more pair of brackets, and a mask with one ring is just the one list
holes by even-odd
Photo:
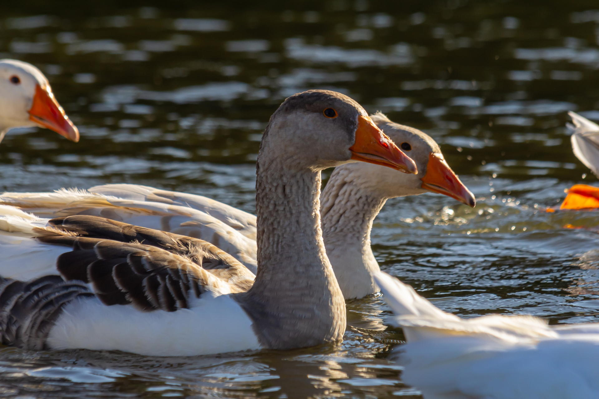
[[418, 167], [418, 175], [397, 173], [374, 165], [348, 165], [352, 178], [361, 187], [382, 198], [418, 195], [428, 192], [440, 193], [474, 207], [476, 200], [470, 190], [447, 165], [437, 142], [429, 135], [413, 127], [403, 126], [389, 120], [378, 112], [372, 120], [397, 147], [412, 158]]

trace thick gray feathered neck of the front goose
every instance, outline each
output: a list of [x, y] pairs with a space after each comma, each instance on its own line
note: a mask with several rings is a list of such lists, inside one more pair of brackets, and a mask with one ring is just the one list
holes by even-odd
[[262, 345], [273, 349], [341, 340], [346, 326], [343, 294], [320, 230], [320, 171], [290, 163], [261, 148], [258, 274], [253, 287], [238, 296]]

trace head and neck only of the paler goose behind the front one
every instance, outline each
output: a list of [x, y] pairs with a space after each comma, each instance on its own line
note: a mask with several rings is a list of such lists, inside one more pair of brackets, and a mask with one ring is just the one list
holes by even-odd
[[380, 112], [372, 118], [416, 162], [419, 173], [397, 173], [365, 163], [341, 165], [332, 172], [320, 197], [320, 215], [326, 254], [345, 299], [379, 291], [371, 278], [380, 268], [370, 246], [370, 231], [386, 200], [434, 192], [476, 205], [473, 194], [447, 165], [430, 136], [394, 123]]

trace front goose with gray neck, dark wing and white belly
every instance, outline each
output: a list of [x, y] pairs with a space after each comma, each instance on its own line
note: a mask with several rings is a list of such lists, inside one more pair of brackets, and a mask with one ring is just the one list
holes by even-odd
[[23, 237], [20, 261], [45, 248], [55, 273], [2, 276], [2, 343], [185, 356], [338, 342], [345, 302], [322, 240], [320, 172], [346, 162], [418, 172], [341, 93], [298, 93], [274, 112], [256, 163], [255, 279], [199, 239], [94, 215], [50, 220]]

